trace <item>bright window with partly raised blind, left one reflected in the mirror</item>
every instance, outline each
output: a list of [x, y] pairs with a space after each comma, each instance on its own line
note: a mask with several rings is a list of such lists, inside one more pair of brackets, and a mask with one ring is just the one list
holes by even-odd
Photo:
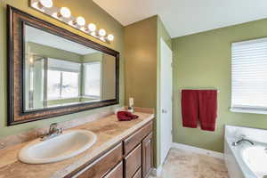
[[47, 99], [61, 100], [79, 97], [79, 74], [79, 63], [49, 59]]

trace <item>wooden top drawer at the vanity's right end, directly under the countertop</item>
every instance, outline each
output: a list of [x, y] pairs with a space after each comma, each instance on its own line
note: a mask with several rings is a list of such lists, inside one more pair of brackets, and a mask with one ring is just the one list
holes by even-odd
[[139, 143], [142, 142], [142, 139], [150, 134], [152, 131], [152, 122], [142, 127], [141, 130], [137, 131], [135, 134], [131, 135], [124, 141], [124, 153], [127, 155], [131, 150], [134, 149]]

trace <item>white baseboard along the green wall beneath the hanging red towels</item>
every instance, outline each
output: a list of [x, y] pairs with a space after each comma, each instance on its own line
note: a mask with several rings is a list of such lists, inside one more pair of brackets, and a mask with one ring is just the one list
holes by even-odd
[[214, 151], [214, 150], [200, 149], [198, 147], [193, 147], [193, 146], [190, 146], [190, 145], [177, 143], [177, 142], [173, 142], [173, 146], [172, 147], [175, 148], [175, 149], [188, 150], [188, 151], [191, 151], [191, 152], [194, 152], [194, 153], [198, 153], [198, 154], [201, 154], [201, 155], [207, 155], [207, 156], [210, 156], [210, 157], [223, 159], [223, 153], [217, 152], [217, 151]]

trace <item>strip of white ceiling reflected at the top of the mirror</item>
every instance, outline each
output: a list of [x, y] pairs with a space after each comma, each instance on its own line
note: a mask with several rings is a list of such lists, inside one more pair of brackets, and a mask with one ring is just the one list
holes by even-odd
[[32, 28], [30, 26], [26, 26], [25, 40], [27, 42], [43, 44], [71, 53], [77, 53], [80, 55], [97, 52], [83, 44], [77, 44], [61, 36], [55, 36], [41, 29]]

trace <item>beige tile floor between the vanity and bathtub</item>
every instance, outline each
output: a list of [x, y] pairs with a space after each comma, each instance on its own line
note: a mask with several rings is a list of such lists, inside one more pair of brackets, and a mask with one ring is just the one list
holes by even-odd
[[[149, 178], [156, 178], [150, 175]], [[170, 150], [157, 178], [229, 178], [223, 159], [185, 150]]]

